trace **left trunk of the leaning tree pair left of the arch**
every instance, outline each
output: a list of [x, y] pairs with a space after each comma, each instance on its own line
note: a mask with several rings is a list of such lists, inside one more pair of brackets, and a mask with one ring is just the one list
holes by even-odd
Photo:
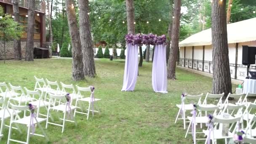
[[69, 24], [69, 34], [71, 37], [71, 45], [72, 45], [72, 79], [83, 80], [83, 54], [82, 45], [79, 36], [79, 30], [77, 27], [77, 19], [75, 16], [75, 9], [72, 8], [73, 0], [66, 0], [66, 10], [67, 10], [67, 19]]

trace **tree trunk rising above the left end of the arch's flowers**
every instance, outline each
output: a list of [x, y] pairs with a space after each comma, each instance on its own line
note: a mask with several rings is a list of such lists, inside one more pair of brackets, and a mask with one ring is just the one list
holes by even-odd
[[126, 1], [126, 13], [127, 13], [127, 29], [128, 34], [135, 34], [135, 13], [134, 13], [134, 5], [133, 0], [125, 0]]

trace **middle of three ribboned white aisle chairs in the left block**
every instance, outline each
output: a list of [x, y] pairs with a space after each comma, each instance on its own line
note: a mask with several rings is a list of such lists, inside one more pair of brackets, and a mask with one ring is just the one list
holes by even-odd
[[[71, 104], [69, 105], [68, 102], [67, 102], [67, 99], [66, 99], [66, 97], [64, 95], [54, 95], [52, 93], [49, 93], [49, 96], [50, 96], [50, 99], [49, 99], [48, 112], [47, 112], [47, 120], [46, 120], [46, 127], [45, 128], [47, 129], [48, 124], [61, 126], [62, 127], [62, 133], [63, 133], [66, 121], [72, 122], [72, 123], [76, 124], [75, 118], [74, 118], [74, 120], [67, 120], [66, 119], [66, 115], [68, 113], [70, 116], [73, 116], [72, 111], [75, 110], [77, 107], [72, 106]], [[64, 100], [65, 104], [59, 104], [59, 105], [55, 106], [55, 102], [54, 101], [56, 101], [56, 100]], [[50, 104], [51, 101], [53, 102], [53, 107], [51, 107], [51, 104]], [[59, 118], [60, 120], [63, 121], [62, 125], [58, 124], [58, 123], [49, 122], [49, 114], [50, 114], [51, 110], [57, 110], [57, 111], [61, 111], [61, 112], [64, 113], [64, 117], [63, 118]]]

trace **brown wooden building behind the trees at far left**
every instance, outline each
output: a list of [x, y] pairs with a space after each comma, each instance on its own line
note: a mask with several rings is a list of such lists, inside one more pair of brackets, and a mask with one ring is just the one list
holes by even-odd
[[[11, 0], [0, 0], [0, 6], [3, 7], [5, 13], [13, 15], [13, 5]], [[35, 34], [34, 34], [34, 47], [45, 47], [46, 42], [46, 27], [45, 27], [45, 2], [40, 3], [41, 10], [35, 11]], [[28, 8], [19, 6], [20, 24], [23, 27], [23, 33], [21, 34], [21, 53], [22, 58], [25, 56], [25, 45], [27, 42], [27, 14]], [[2, 36], [2, 35], [0, 35]], [[7, 59], [13, 59], [13, 42], [6, 44]], [[1, 50], [1, 48], [0, 48]], [[0, 58], [1, 59], [1, 58]]]

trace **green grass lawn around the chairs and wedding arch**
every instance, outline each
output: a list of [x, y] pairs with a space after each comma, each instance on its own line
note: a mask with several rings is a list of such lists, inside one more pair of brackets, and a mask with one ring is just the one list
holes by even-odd
[[[96, 78], [75, 82], [71, 79], [71, 59], [35, 59], [33, 62], [10, 60], [6, 64], [0, 61], [0, 82], [5, 81], [33, 90], [35, 75], [38, 78], [48, 78], [65, 84], [73, 83], [81, 87], [94, 85], [95, 97], [101, 99], [95, 104], [100, 113], [94, 117], [90, 115], [89, 120], [86, 120], [85, 115], [77, 114], [77, 126], [67, 122], [64, 133], [61, 133], [61, 127], [49, 125], [45, 130], [50, 139], [49, 143], [192, 143], [191, 135], [187, 139], [184, 138], [186, 131], [182, 121], [174, 124], [178, 111], [176, 104], [180, 104], [181, 92], [192, 95], [211, 92], [211, 78], [177, 68], [177, 80], [168, 80], [168, 93], [155, 93], [151, 82], [152, 63], [143, 62], [143, 67], [139, 67], [140, 75], [135, 91], [122, 92], [125, 63], [108, 59], [95, 62]], [[45, 128], [45, 123], [41, 125]], [[27, 133], [25, 127], [23, 129], [22, 134], [13, 130], [12, 138], [25, 140]], [[40, 133], [39, 128], [36, 132]], [[0, 143], [6, 143], [7, 137], [8, 128], [5, 128]], [[47, 142], [42, 137], [32, 136], [30, 143]]]

